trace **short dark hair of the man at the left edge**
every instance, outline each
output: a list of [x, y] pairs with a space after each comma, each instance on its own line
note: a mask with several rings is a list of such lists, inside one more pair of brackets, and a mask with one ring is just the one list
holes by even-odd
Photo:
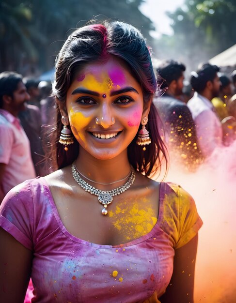
[[22, 81], [22, 76], [16, 72], [0, 73], [0, 108], [3, 107], [2, 97], [8, 95], [13, 97], [14, 91], [17, 90], [18, 83]]

